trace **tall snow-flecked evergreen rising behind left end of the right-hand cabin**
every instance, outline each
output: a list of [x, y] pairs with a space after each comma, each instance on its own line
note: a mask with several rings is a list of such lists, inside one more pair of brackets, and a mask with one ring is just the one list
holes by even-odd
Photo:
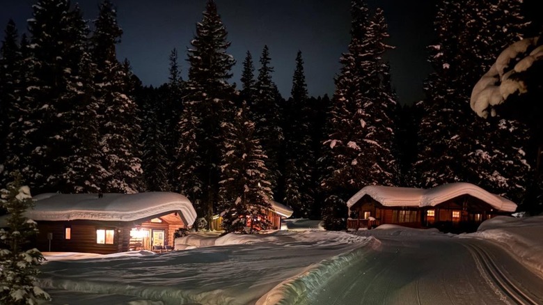
[[383, 86], [381, 26], [370, 22], [365, 1], [352, 1], [351, 42], [340, 59], [329, 128], [324, 141], [322, 187], [327, 196], [322, 217], [326, 228], [345, 227], [345, 202], [366, 185], [394, 185], [398, 166], [393, 155], [391, 93]]

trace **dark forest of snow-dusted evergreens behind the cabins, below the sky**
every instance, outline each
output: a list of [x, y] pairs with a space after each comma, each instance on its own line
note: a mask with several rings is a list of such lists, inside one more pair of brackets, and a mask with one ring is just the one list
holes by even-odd
[[[1, 185], [17, 171], [32, 194], [175, 191], [202, 228], [221, 214], [228, 231], [244, 226], [239, 214], [264, 219], [272, 200], [343, 229], [346, 201], [366, 185], [471, 182], [542, 212], [541, 111], [483, 119], [469, 102], [503, 49], [541, 35], [523, 1], [438, 1], [433, 72], [412, 105], [391, 83], [384, 11], [363, 0], [351, 10], [335, 92], [308, 95], [298, 52], [283, 97], [267, 46], [258, 61], [247, 52], [239, 86], [230, 81], [236, 60], [214, 0], [187, 50], [187, 79], [173, 49], [158, 87], [118, 60], [123, 30], [111, 1], [88, 22], [70, 1], [38, 0], [28, 34], [9, 22], [1, 41]], [[519, 98], [530, 105], [540, 96]]]

